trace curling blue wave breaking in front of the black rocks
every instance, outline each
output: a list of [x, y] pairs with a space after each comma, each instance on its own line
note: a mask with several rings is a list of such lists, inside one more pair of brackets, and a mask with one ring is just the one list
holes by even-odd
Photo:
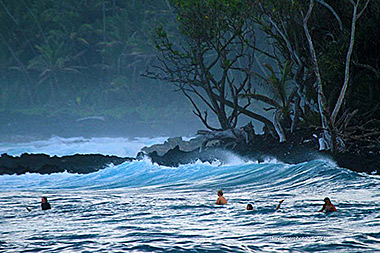
[[344, 185], [363, 179], [362, 175], [333, 164], [314, 160], [295, 165], [269, 160], [245, 162], [232, 157], [231, 163], [222, 164], [196, 161], [178, 167], [152, 164], [150, 160], [124, 162], [90, 174], [55, 173], [50, 175], [25, 174], [0, 176], [0, 190], [11, 189], [112, 189], [182, 184], [267, 187], [317, 187]]

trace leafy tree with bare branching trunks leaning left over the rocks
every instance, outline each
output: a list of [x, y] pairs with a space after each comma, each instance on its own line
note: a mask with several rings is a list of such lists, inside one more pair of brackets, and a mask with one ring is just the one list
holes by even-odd
[[[256, 47], [255, 29], [247, 22], [251, 9], [231, 10], [228, 4], [213, 4], [187, 9], [176, 6], [183, 40], [175, 44], [158, 28], [160, 64], [155, 66], [158, 71], [148, 71], [145, 76], [173, 83], [209, 129], [232, 129], [239, 115], [245, 114], [273, 131], [273, 123], [248, 110], [251, 102], [240, 96], [252, 89]], [[217, 117], [219, 127], [209, 123], [208, 111], [202, 112], [199, 101]]]

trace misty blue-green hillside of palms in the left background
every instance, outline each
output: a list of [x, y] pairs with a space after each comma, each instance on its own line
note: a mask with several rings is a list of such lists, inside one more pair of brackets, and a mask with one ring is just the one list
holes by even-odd
[[172, 87], [140, 76], [170, 10], [165, 0], [1, 0], [0, 111], [190, 118]]

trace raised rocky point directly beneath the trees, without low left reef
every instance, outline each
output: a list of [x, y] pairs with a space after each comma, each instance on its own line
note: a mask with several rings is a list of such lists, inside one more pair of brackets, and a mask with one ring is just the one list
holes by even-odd
[[263, 162], [274, 158], [289, 164], [327, 159], [339, 167], [380, 175], [379, 147], [370, 150], [358, 147], [334, 155], [328, 151], [319, 151], [318, 148], [318, 137], [312, 129], [298, 130], [286, 142], [280, 143], [272, 135], [256, 135], [254, 131], [245, 128], [234, 133], [200, 131], [193, 140], [169, 138], [163, 144], [146, 147], [142, 151], [152, 162], [165, 166], [178, 166], [196, 160], [224, 162], [232, 153], [246, 160]]

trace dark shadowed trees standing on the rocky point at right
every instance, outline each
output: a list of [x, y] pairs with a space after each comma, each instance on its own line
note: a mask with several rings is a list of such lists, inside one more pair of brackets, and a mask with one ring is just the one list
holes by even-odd
[[146, 76], [173, 83], [207, 128], [234, 129], [244, 114], [280, 142], [313, 127], [332, 152], [379, 146], [380, 2], [170, 3], [178, 31], [156, 29], [159, 63]]

